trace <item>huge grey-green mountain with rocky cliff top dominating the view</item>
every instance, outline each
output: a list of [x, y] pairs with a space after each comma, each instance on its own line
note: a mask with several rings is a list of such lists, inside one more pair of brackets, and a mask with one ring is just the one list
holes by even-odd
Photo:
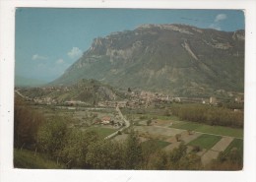
[[97, 37], [52, 84], [82, 78], [179, 96], [243, 91], [244, 30], [142, 25]]

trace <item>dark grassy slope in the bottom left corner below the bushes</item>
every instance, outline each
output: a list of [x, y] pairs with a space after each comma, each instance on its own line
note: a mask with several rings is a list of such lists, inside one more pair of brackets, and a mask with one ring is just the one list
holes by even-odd
[[14, 167], [32, 169], [60, 169], [65, 168], [63, 164], [57, 164], [47, 158], [45, 154], [36, 153], [28, 150], [14, 150]]

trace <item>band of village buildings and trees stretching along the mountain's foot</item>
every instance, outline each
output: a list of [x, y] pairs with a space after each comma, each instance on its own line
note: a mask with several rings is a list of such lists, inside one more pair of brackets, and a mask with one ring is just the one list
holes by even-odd
[[[40, 88], [42, 91], [51, 92], [51, 91], [71, 91], [70, 87], [43, 87]], [[64, 106], [92, 106], [91, 103], [83, 100], [57, 100], [53, 96], [34, 96], [30, 97], [29, 95], [23, 95], [20, 92], [20, 89], [17, 88], [16, 92], [18, 92], [21, 96], [26, 98], [29, 101], [33, 101], [37, 104], [47, 104], [47, 105], [64, 105]], [[202, 104], [212, 104], [217, 105], [222, 102], [236, 102], [243, 103], [244, 102], [244, 94], [242, 92], [234, 92], [234, 91], [224, 91], [219, 90], [216, 91], [217, 95], [225, 94], [225, 98], [218, 96], [210, 96], [210, 97], [185, 97], [185, 96], [170, 96], [168, 94], [163, 94], [160, 92], [153, 91], [126, 91], [126, 95], [128, 98], [120, 100], [120, 99], [112, 99], [112, 100], [99, 100], [94, 106], [96, 107], [152, 107], [159, 106], [163, 103], [202, 103]], [[227, 97], [227, 98], [226, 98]]]

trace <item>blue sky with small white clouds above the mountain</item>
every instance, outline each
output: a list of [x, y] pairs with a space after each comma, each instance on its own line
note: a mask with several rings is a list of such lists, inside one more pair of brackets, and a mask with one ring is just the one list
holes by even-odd
[[76, 62], [94, 38], [143, 24], [185, 24], [244, 30], [240, 10], [56, 9], [16, 10], [15, 74], [51, 82]]

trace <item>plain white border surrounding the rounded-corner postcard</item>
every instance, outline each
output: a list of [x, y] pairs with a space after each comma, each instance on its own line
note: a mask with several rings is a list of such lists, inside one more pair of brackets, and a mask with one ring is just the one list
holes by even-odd
[[[242, 9], [246, 18], [244, 168], [241, 171], [25, 170], [13, 169], [14, 34], [17, 7]], [[255, 0], [0, 0], [0, 181], [255, 182]]]

